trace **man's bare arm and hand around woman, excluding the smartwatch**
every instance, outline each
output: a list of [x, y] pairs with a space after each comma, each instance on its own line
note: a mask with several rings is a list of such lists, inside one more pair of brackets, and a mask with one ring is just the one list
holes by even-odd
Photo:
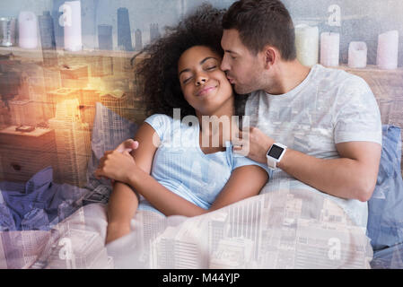
[[[234, 152], [261, 163], [267, 162], [266, 152], [273, 143], [257, 127], [240, 131], [239, 138], [232, 139]], [[346, 142], [337, 143], [336, 148], [340, 158], [320, 159], [288, 147], [277, 167], [331, 196], [368, 201], [376, 185], [381, 144]]]

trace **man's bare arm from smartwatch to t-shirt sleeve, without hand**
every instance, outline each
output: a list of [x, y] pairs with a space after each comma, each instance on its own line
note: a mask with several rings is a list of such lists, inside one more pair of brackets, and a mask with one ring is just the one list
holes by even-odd
[[278, 168], [332, 196], [368, 201], [376, 185], [381, 145], [337, 143], [339, 159], [324, 160], [287, 149]]

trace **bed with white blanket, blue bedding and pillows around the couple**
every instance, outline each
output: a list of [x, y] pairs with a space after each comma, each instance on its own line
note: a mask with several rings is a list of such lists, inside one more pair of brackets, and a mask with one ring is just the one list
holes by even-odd
[[96, 103], [85, 187], [55, 183], [51, 166], [0, 183], [0, 268], [403, 268], [399, 126], [383, 126], [367, 230], [324, 196], [279, 190], [192, 218], [137, 211], [130, 234], [105, 246], [111, 187], [93, 170], [137, 125], [101, 117], [118, 116]]

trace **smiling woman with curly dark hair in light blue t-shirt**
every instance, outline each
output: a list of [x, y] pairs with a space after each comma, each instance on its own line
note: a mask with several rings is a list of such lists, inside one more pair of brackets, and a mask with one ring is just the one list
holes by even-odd
[[[130, 232], [137, 206], [195, 216], [256, 196], [267, 183], [264, 165], [232, 152], [232, 131], [239, 127], [231, 118], [241, 105], [235, 105], [231, 83], [220, 70], [222, 15], [202, 5], [145, 48], [150, 57], [136, 76], [152, 116], [139, 127], [133, 152], [105, 152], [95, 171], [115, 180], [106, 243]], [[189, 116], [195, 125], [188, 125]], [[212, 126], [202, 125], [206, 117]], [[220, 118], [229, 120], [215, 125]], [[140, 205], [136, 193], [145, 198]]]

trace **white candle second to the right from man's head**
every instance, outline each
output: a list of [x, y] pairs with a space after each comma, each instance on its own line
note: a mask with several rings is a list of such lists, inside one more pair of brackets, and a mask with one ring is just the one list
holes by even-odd
[[340, 51], [340, 34], [323, 32], [320, 34], [320, 64], [337, 66]]

